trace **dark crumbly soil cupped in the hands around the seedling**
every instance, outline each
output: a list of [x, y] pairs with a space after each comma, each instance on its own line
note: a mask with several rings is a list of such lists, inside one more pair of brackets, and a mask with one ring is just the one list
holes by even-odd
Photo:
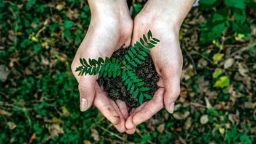
[[[127, 49], [119, 49], [114, 52], [112, 57], [123, 60], [124, 55], [126, 54]], [[142, 65], [138, 65], [137, 68], [134, 68], [134, 72], [137, 74], [138, 78], [145, 82], [144, 87], [150, 88], [147, 94], [153, 96], [154, 92], [158, 89], [158, 86], [156, 85], [156, 82], [158, 82], [158, 75], [151, 57], [148, 56], [146, 60], [142, 62]], [[98, 83], [100, 86], [104, 87], [104, 90], [108, 92], [108, 95], [113, 100], [123, 100], [129, 108], [135, 108], [140, 105], [138, 99], [134, 99], [133, 94], [130, 94], [129, 91], [126, 90], [126, 86], [124, 86], [124, 83], [121, 81], [121, 76], [116, 78], [99, 78]], [[144, 98], [143, 101], [145, 102], [146, 100], [148, 99]]]

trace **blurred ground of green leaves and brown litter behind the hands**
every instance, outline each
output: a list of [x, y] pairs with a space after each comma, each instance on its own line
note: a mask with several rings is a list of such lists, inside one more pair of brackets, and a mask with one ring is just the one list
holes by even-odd
[[[146, 1], [131, 1], [135, 17]], [[119, 134], [79, 111], [71, 62], [90, 22], [84, 0], [0, 0], [0, 143], [256, 143], [256, 1], [201, 0], [180, 31], [181, 94]]]

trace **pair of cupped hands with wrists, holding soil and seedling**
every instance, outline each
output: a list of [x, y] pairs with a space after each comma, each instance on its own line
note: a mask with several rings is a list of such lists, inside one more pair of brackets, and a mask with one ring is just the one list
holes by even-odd
[[[178, 33], [185, 16], [178, 19], [166, 14], [166, 9], [153, 9], [156, 1], [148, 1], [134, 20], [129, 15], [126, 1], [88, 1], [91, 21], [86, 36], [81, 42], [71, 65], [73, 74], [79, 82], [80, 109], [86, 111], [92, 103], [111, 122], [119, 132], [134, 134], [136, 126], [150, 119], [162, 108], [174, 112], [174, 103], [180, 94], [182, 72], [182, 52]], [[106, 4], [108, 3], [108, 4]], [[184, 14], [183, 14], [184, 15]], [[170, 18], [169, 18], [170, 17]], [[153, 37], [160, 40], [151, 49], [150, 55], [159, 76], [158, 90], [153, 99], [129, 110], [121, 100], [112, 100], [97, 83], [97, 76], [78, 76], [75, 72], [80, 64], [79, 58], [111, 57], [122, 47], [133, 45], [151, 30]]]

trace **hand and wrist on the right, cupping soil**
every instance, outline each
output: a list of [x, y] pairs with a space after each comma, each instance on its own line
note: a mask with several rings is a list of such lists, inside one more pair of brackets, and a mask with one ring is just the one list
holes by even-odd
[[[193, 1], [149, 0], [135, 17], [132, 44], [139, 41], [142, 34], [152, 31], [153, 38], [160, 40], [151, 49], [151, 57], [159, 75], [158, 87], [152, 100], [138, 106], [126, 120], [129, 134], [133, 134], [138, 124], [150, 119], [155, 113], [166, 108], [174, 111], [174, 103], [180, 94], [182, 73], [182, 52], [178, 41], [180, 26], [190, 10]], [[185, 9], [182, 10], [181, 9]]]

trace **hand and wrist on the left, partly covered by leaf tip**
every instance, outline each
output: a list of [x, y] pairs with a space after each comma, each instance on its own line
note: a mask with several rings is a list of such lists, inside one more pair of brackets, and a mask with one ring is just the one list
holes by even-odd
[[97, 76], [78, 76], [75, 72], [80, 64], [79, 58], [110, 57], [114, 50], [128, 47], [132, 36], [132, 18], [126, 1], [88, 1], [92, 19], [86, 37], [76, 52], [71, 65], [72, 72], [79, 82], [80, 109], [86, 111], [92, 103], [114, 124], [119, 132], [125, 132], [128, 117], [126, 104], [112, 100], [103, 88], [98, 86]]

